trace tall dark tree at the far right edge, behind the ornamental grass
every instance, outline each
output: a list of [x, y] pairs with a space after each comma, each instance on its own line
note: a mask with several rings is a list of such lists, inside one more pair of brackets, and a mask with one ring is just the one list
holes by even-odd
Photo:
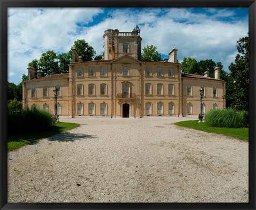
[[237, 41], [237, 51], [235, 63], [228, 67], [229, 90], [226, 92], [226, 101], [231, 108], [236, 110], [249, 110], [249, 37], [239, 38]]

